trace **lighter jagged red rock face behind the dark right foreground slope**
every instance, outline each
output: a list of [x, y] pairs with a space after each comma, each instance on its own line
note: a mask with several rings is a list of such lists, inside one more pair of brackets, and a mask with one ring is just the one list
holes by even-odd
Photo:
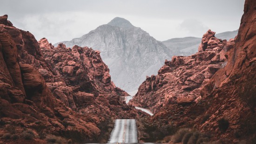
[[203, 35], [202, 44], [206, 51], [183, 57], [173, 56], [171, 61], [166, 60], [165, 65], [152, 75], [139, 87], [138, 93], [131, 100], [132, 105], [148, 108], [157, 112], [170, 104], [186, 105], [195, 102], [201, 97], [200, 90], [209, 79], [223, 66], [224, 55], [230, 49], [222, 49], [223, 43], [214, 37], [215, 32], [208, 31]]

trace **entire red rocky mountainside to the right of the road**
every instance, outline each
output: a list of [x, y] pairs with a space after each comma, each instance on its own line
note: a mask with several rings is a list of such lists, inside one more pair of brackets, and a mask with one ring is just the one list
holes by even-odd
[[173, 134], [186, 127], [190, 142], [256, 143], [256, 1], [245, 0], [236, 39], [214, 35], [205, 33], [199, 52], [173, 57], [141, 84], [132, 105], [155, 111], [139, 122], [141, 141], [172, 135], [171, 143], [182, 142]]

